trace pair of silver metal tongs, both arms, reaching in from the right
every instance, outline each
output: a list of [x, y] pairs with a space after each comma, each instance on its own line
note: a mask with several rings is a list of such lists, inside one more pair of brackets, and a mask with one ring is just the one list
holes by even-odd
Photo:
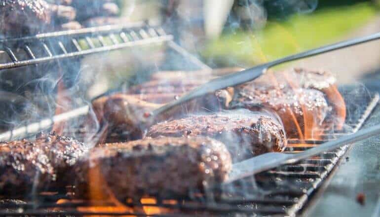
[[[315, 56], [318, 54], [330, 52], [333, 50], [338, 50], [341, 48], [376, 40], [379, 38], [380, 38], [380, 33], [376, 33], [370, 36], [364, 36], [364, 37], [359, 37], [359, 38], [355, 38], [351, 40], [346, 40], [346, 41], [338, 42], [335, 44], [308, 50], [299, 54], [287, 56], [282, 59], [278, 59], [269, 63], [255, 66], [251, 69], [247, 69], [241, 72], [235, 72], [232, 74], [228, 74], [228, 75], [213, 79], [210, 82], [203, 84], [195, 88], [194, 90], [190, 91], [188, 94], [181, 97], [180, 99], [172, 101], [158, 109], [155, 109], [152, 112], [151, 116], [146, 118], [144, 122], [145, 124], [151, 125], [152, 123], [154, 123], [155, 117], [157, 117], [160, 114], [165, 113], [166, 111], [176, 106], [179, 106], [197, 97], [204, 96], [208, 93], [213, 93], [223, 88], [233, 87], [233, 86], [254, 80], [257, 77], [263, 75], [269, 68], [277, 66], [279, 64], [298, 60], [298, 59], [303, 59], [305, 57]], [[317, 155], [319, 153], [322, 153], [328, 150], [333, 150], [343, 145], [354, 143], [354, 142], [357, 142], [357, 141], [360, 141], [360, 140], [363, 140], [375, 135], [379, 135], [379, 134], [380, 134], [380, 125], [376, 125], [368, 129], [360, 130], [357, 133], [344, 136], [338, 140], [321, 144], [317, 147], [308, 149], [301, 153], [286, 154], [286, 153], [270, 152], [270, 153], [262, 154], [262, 155], [234, 164], [232, 166], [232, 171], [229, 174], [229, 179], [227, 182], [232, 182], [232, 181], [236, 181], [248, 176], [252, 176], [256, 173], [266, 171], [268, 169], [275, 168], [283, 164], [296, 163], [302, 159]]]

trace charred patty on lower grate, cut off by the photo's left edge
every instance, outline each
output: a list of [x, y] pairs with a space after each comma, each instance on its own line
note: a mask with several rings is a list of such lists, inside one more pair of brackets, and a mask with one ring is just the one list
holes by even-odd
[[34, 141], [0, 143], [0, 195], [28, 196], [65, 187], [71, 182], [67, 173], [86, 150], [55, 133], [39, 134]]

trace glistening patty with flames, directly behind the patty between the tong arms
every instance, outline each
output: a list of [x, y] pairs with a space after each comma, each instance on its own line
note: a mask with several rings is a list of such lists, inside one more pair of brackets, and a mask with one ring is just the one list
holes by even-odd
[[[272, 109], [281, 117], [286, 134], [291, 138], [303, 137], [307, 133], [305, 130], [311, 131], [308, 133], [312, 136], [312, 130], [320, 129], [329, 109], [320, 91], [303, 88], [255, 87], [239, 92], [238, 97], [232, 101], [231, 108], [255, 111], [264, 106]], [[308, 126], [305, 126], [305, 122]]]

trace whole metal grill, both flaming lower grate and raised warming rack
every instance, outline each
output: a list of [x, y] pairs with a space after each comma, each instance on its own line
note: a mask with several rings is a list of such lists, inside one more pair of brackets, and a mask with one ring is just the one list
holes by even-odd
[[[9, 62], [0, 64], [0, 70], [163, 42], [198, 68], [209, 69], [176, 44], [173, 36], [166, 34], [161, 27], [150, 27], [144, 23], [138, 23], [129, 26], [104, 26], [0, 40], [1, 49], [10, 59]], [[37, 55], [33, 47], [39, 47], [45, 55]], [[20, 60], [17, 55], [20, 49], [28, 54], [28, 58]], [[378, 94], [370, 94], [357, 87], [342, 87], [340, 91], [347, 99], [346, 127], [342, 131], [326, 131], [322, 139], [318, 141], [289, 140], [287, 152], [303, 151], [328, 140], [356, 132], [379, 101]], [[49, 130], [54, 123], [62, 121], [76, 120], [78, 122], [77, 120], [84, 118], [89, 109], [88, 106], [83, 106], [52, 118], [29, 123], [0, 134], [0, 140], [28, 138], [41, 130]], [[188, 198], [168, 196], [167, 198], [153, 197], [144, 201], [124, 201], [123, 204], [130, 208], [128, 212], [115, 211], [117, 207], [111, 201], [73, 201], [67, 192], [44, 192], [28, 201], [0, 196], [0, 216], [151, 216], [149, 212], [146, 212], [147, 207], [155, 211], [160, 208], [160, 212], [154, 213], [154, 216], [180, 214], [183, 216], [194, 214], [295, 216], [302, 212], [319, 187], [331, 177], [336, 165], [344, 158], [348, 149], [349, 145], [345, 145], [335, 151], [325, 152], [296, 164], [281, 166], [228, 185], [215, 186], [205, 193], [193, 192]], [[58, 201], [60, 202], [57, 203]], [[93, 211], [94, 207], [103, 209]]]

